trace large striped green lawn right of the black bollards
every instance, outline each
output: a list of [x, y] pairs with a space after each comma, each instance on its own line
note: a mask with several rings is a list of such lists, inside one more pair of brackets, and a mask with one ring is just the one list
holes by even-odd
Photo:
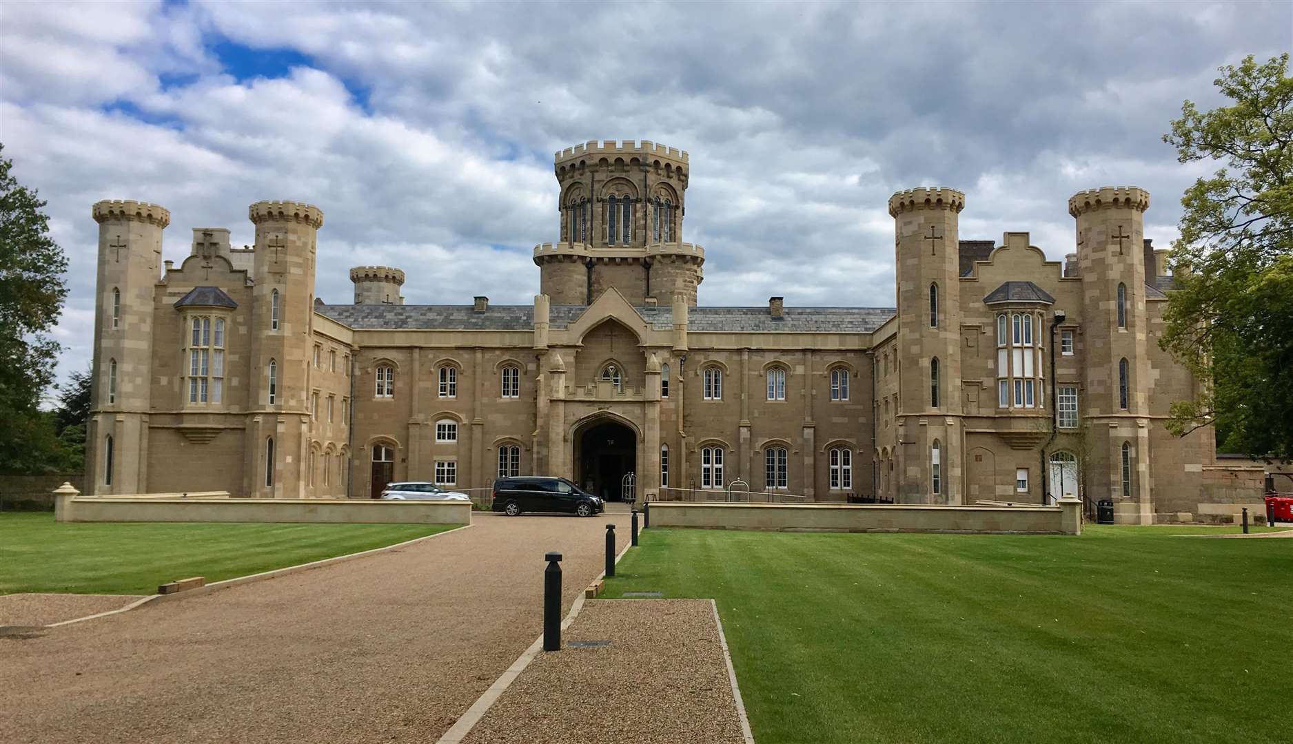
[[1288, 741], [1293, 540], [1182, 532], [653, 528], [606, 597], [715, 598], [759, 744]]

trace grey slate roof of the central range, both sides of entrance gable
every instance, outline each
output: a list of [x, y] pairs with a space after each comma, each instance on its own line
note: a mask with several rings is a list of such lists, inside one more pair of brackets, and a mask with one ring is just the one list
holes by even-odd
[[[321, 305], [318, 313], [356, 329], [440, 329], [440, 331], [529, 331], [534, 327], [531, 305], [490, 305], [476, 313], [472, 305]], [[566, 328], [586, 307], [553, 305], [548, 310], [552, 328]], [[672, 307], [636, 307], [656, 331], [674, 327]], [[893, 316], [892, 307], [786, 307], [781, 320], [773, 320], [767, 306], [690, 307], [688, 331], [791, 331], [800, 333], [870, 333]]]

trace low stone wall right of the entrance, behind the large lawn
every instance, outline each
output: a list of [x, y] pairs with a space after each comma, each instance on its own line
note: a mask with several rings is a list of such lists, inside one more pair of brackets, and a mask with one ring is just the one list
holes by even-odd
[[822, 532], [985, 532], [1080, 535], [1081, 505], [922, 506], [910, 504], [692, 504], [653, 501], [652, 527]]

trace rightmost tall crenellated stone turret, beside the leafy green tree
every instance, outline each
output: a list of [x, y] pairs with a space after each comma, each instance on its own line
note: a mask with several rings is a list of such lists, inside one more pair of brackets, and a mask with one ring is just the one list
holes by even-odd
[[[1144, 285], [1144, 211], [1149, 192], [1135, 186], [1078, 191], [1068, 200], [1077, 220], [1086, 347], [1084, 415], [1095, 431], [1089, 497], [1113, 499], [1124, 519], [1152, 521], [1149, 452], [1149, 349]], [[1122, 491], [1126, 465], [1135, 487]], [[1146, 522], [1148, 523], [1148, 522]]]

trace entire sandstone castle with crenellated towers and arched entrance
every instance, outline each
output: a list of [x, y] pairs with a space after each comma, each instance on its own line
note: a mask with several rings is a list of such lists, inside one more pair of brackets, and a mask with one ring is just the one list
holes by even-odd
[[[1164, 428], [1197, 382], [1159, 349], [1165, 251], [1135, 187], [1069, 199], [1076, 251], [1027, 232], [962, 240], [966, 198], [888, 203], [897, 307], [697, 302], [683, 240], [688, 154], [588, 142], [556, 154], [559, 242], [533, 305], [406, 305], [403, 271], [350, 270], [315, 297], [319, 208], [257, 202], [255, 245], [100, 202], [89, 473], [96, 493], [372, 497], [431, 480], [485, 497], [500, 475], [618, 497], [728, 488], [804, 501], [1113, 501], [1120, 522], [1259, 504], [1209, 429]], [[631, 478], [628, 475], [632, 474]]]

